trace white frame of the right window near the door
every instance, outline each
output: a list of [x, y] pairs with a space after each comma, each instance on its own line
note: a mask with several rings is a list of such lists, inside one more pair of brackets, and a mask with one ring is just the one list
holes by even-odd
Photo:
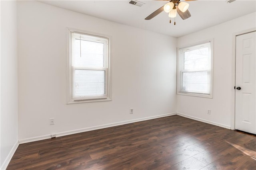
[[[186, 96], [195, 96], [195, 97], [202, 97], [202, 98], [213, 98], [213, 39], [209, 39], [206, 41], [201, 41], [199, 43], [194, 43], [192, 45], [186, 45], [184, 47], [177, 48], [177, 89], [176, 92], [178, 95], [186, 95]], [[184, 55], [182, 55], [182, 50], [193, 48], [198, 49], [196, 46], [203, 45], [205, 43], [210, 43], [210, 68], [208, 70], [206, 69], [198, 69], [198, 70], [184, 70], [182, 69], [182, 66], [184, 66]], [[182, 80], [182, 73], [183, 72], [200, 72], [200, 71], [207, 71], [208, 74], [210, 74], [210, 92], [209, 94], [203, 94], [203, 93], [196, 93], [196, 92], [185, 92], [180, 90], [181, 80]]]

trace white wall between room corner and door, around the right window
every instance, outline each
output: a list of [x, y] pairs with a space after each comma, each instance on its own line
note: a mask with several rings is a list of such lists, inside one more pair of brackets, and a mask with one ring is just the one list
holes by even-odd
[[[230, 127], [234, 115], [234, 33], [255, 28], [256, 13], [178, 38], [184, 47], [214, 38], [213, 98], [177, 95], [177, 112]], [[207, 114], [211, 109], [211, 114]]]

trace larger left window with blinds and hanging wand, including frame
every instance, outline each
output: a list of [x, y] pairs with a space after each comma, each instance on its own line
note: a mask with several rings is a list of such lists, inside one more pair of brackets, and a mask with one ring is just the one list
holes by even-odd
[[110, 99], [109, 39], [69, 31], [68, 104]]

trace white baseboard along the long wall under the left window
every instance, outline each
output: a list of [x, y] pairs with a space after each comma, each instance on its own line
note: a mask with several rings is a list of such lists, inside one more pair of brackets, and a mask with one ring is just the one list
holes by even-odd
[[[139, 118], [139, 119], [132, 119], [132, 120], [128, 120], [128, 121], [120, 121], [120, 122], [116, 122], [116, 123], [109, 123], [109, 124], [105, 124], [105, 125], [86, 127], [86, 128], [76, 129], [76, 130], [72, 130], [72, 131], [58, 132], [58, 133], [56, 133], [56, 137], [72, 135], [75, 133], [82, 133], [82, 132], [87, 132], [87, 131], [93, 131], [93, 130], [97, 130], [97, 129], [103, 129], [103, 128], [107, 128], [107, 127], [124, 125], [124, 124], [128, 124], [128, 123], [134, 123], [134, 122], [145, 121], [145, 120], [150, 120], [150, 119], [156, 119], [156, 118], [166, 117], [166, 116], [171, 116], [171, 115], [176, 115], [176, 112], [175, 113], [167, 113], [167, 114], [163, 114], [163, 115], [144, 117], [144, 118]], [[38, 137], [19, 139], [19, 143], [22, 144], [22, 143], [40, 141], [40, 140], [50, 139], [50, 138], [51, 138], [51, 134], [48, 134], [48, 135], [43, 135], [43, 136], [38, 136]]]

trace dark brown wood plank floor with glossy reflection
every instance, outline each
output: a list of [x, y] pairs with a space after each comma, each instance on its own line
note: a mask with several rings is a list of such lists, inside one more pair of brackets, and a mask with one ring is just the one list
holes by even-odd
[[255, 170], [252, 153], [255, 135], [174, 115], [21, 144], [7, 170]]

